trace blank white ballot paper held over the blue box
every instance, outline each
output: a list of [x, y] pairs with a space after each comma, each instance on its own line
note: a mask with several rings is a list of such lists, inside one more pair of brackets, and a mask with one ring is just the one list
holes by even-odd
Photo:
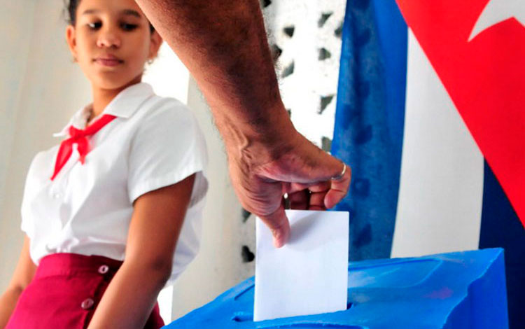
[[257, 218], [253, 321], [346, 309], [349, 214], [287, 210], [290, 239], [273, 245]]

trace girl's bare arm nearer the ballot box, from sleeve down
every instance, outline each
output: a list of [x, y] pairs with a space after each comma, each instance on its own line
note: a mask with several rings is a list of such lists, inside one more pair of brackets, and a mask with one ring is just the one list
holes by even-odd
[[172, 272], [172, 260], [195, 175], [141, 195], [127, 237], [126, 257], [88, 329], [144, 328]]

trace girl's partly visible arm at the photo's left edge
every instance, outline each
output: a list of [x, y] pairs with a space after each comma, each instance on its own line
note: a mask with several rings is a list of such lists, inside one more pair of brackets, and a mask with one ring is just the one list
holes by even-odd
[[0, 328], [4, 328], [15, 309], [18, 297], [33, 279], [36, 265], [29, 257], [29, 238], [24, 239], [22, 253], [18, 265], [16, 265], [13, 279], [11, 279], [6, 291], [0, 296]]

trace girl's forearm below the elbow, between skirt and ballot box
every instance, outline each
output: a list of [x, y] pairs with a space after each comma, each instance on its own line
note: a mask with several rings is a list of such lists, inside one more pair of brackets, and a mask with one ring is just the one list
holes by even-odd
[[144, 328], [169, 272], [168, 267], [124, 262], [106, 289], [88, 328]]

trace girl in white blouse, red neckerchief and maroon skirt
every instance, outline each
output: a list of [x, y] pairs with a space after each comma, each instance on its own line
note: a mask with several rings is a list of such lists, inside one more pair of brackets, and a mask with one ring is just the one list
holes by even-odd
[[68, 12], [93, 102], [31, 162], [0, 328], [160, 328], [158, 293], [199, 244], [204, 138], [183, 104], [141, 83], [162, 39], [133, 0]]

